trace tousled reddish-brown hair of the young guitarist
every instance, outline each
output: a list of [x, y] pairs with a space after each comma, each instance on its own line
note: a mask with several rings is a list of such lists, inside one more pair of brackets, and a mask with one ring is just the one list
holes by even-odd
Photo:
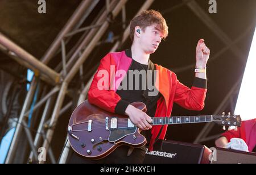
[[156, 24], [156, 29], [163, 33], [163, 39], [168, 36], [168, 26], [166, 20], [163, 18], [159, 11], [145, 10], [141, 15], [136, 16], [130, 23], [130, 37], [131, 41], [134, 40], [134, 28], [139, 26], [144, 31], [146, 27]]

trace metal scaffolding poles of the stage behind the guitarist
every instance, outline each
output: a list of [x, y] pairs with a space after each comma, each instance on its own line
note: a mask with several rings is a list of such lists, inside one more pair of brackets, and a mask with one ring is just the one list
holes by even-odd
[[[125, 5], [127, 0], [106, 0], [105, 7], [98, 12], [98, 15], [95, 17], [90, 26], [82, 27], [82, 23], [88, 18], [89, 14], [93, 12], [100, 1], [94, 0], [84, 0], [77, 7], [76, 11], [73, 13], [71, 18], [68, 20], [67, 24], [64, 26], [63, 30], [60, 31], [56, 39], [53, 41], [51, 46], [48, 48], [47, 52], [44, 54], [42, 59], [37, 59], [30, 53], [24, 51], [18, 45], [13, 43], [13, 41], [6, 38], [6, 36], [0, 34], [0, 50], [5, 52], [15, 61], [19, 62], [28, 69], [32, 69], [35, 73], [35, 76], [31, 82], [30, 89], [27, 92], [26, 99], [24, 101], [22, 111], [19, 115], [19, 120], [16, 125], [16, 130], [14, 134], [13, 141], [11, 142], [9, 152], [6, 157], [5, 163], [14, 163], [14, 157], [16, 156], [16, 149], [20, 140], [20, 136], [24, 133], [27, 136], [28, 143], [30, 145], [30, 154], [28, 158], [29, 163], [34, 163], [38, 161], [38, 148], [42, 147], [45, 149], [46, 153], [49, 155], [49, 160], [51, 163], [66, 163], [69, 155], [70, 144], [68, 142], [68, 137], [65, 139], [64, 149], [61, 152], [61, 155], [55, 155], [59, 157], [59, 160], [56, 161], [55, 156], [51, 150], [51, 143], [53, 134], [55, 132], [55, 126], [59, 117], [65, 113], [68, 109], [71, 108], [74, 102], [69, 102], [64, 104], [64, 98], [69, 97], [72, 99], [72, 94], [69, 92], [69, 84], [72, 79], [79, 74], [83, 76], [84, 70], [83, 65], [85, 64], [86, 59], [97, 46], [97, 43], [100, 41], [102, 36], [105, 34], [106, 30], [110, 26], [112, 19], [115, 19], [119, 12], [122, 12], [122, 23], [123, 23], [123, 34], [120, 40], [117, 40], [111, 49], [110, 52], [117, 51], [117, 48], [125, 43], [127, 38], [129, 38], [129, 27], [125, 25], [126, 22], [126, 9]], [[141, 11], [147, 10], [150, 8], [154, 0], [146, 0], [142, 7], [138, 10], [138, 15]], [[243, 35], [237, 38], [237, 40], [232, 41], [228, 36], [220, 30], [220, 28], [209, 16], [201, 10], [199, 5], [193, 0], [183, 0], [183, 5], [187, 5], [203, 22], [216, 34], [221, 40], [226, 44], [226, 47], [216, 54], [218, 57], [221, 53], [227, 49], [231, 49], [232, 52], [237, 55], [239, 58], [244, 59], [245, 55], [240, 51], [240, 49], [234, 47], [234, 45], [239, 41]], [[112, 19], [110, 19], [112, 18]], [[80, 34], [81, 37], [73, 45], [71, 49], [67, 52], [66, 46], [68, 42], [72, 39], [73, 36]], [[51, 59], [61, 53], [61, 61], [56, 66], [55, 69], [50, 68], [47, 64]], [[180, 71], [190, 68], [191, 65], [180, 68]], [[97, 65], [92, 69], [95, 71]], [[89, 72], [90, 70], [87, 70]], [[75, 106], [79, 105], [86, 99], [86, 94], [88, 92], [92, 78], [86, 83], [86, 85], [81, 85], [81, 93], [79, 94], [79, 99]], [[233, 97], [236, 95], [239, 85], [241, 83], [242, 77], [237, 81], [237, 84], [230, 90], [229, 94], [226, 95], [224, 101], [216, 109], [214, 114], [220, 114], [225, 108], [225, 105], [234, 106]], [[35, 97], [35, 92], [39, 82], [45, 83], [47, 88], [46, 94], [42, 95], [36, 104], [31, 108], [32, 100]], [[80, 82], [82, 84], [82, 82]], [[42, 91], [43, 88], [41, 88]], [[52, 107], [54, 106], [54, 107]], [[42, 115], [39, 115], [39, 122], [36, 125], [37, 130], [34, 132], [35, 137], [33, 138], [31, 134], [31, 129], [27, 126], [26, 120], [28, 115], [33, 113], [36, 110], [43, 110]], [[201, 143], [203, 141], [212, 140], [216, 136], [208, 136], [210, 130], [213, 128], [212, 123], [205, 125], [203, 130], [197, 136], [194, 143]], [[45, 163], [45, 161], [40, 161], [39, 163]]]

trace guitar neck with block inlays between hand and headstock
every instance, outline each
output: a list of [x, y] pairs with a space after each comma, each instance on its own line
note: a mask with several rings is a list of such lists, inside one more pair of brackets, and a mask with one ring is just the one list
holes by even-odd
[[203, 116], [171, 116], [171, 117], [152, 117], [152, 126], [164, 124], [184, 124], [184, 123], [207, 123], [213, 121], [213, 115]]

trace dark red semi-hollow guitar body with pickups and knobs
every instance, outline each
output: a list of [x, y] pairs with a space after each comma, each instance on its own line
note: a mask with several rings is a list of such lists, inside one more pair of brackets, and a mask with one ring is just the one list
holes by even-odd
[[[131, 105], [142, 111], [142, 102]], [[108, 156], [120, 145], [142, 147], [146, 139], [136, 126], [131, 126], [127, 116], [109, 113], [84, 101], [77, 106], [69, 120], [68, 138], [71, 147], [79, 155], [98, 160]]]

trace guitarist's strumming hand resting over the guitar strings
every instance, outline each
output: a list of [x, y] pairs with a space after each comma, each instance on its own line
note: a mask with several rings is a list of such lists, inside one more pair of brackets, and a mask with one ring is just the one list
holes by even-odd
[[129, 116], [131, 122], [142, 130], [149, 130], [152, 128], [150, 125], [150, 123], [152, 123], [151, 117], [136, 107], [132, 105], [127, 106], [125, 113]]

